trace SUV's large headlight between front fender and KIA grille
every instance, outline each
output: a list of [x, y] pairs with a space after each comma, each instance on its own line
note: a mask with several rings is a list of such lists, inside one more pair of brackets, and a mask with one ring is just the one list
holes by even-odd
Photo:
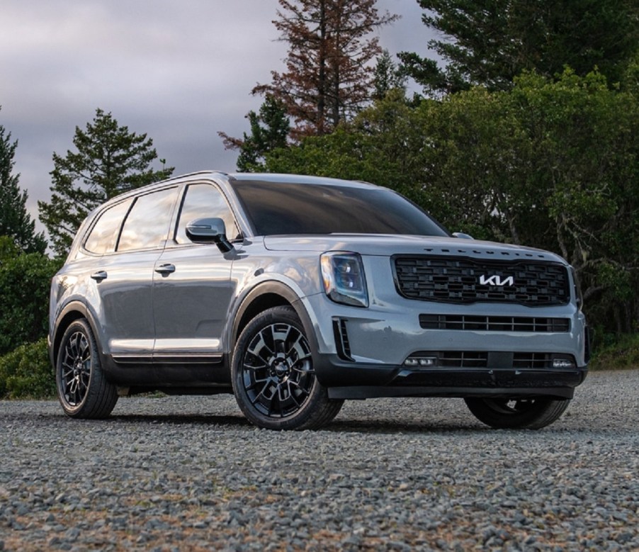
[[368, 290], [361, 257], [357, 253], [324, 253], [320, 258], [324, 290], [335, 303], [368, 307]]

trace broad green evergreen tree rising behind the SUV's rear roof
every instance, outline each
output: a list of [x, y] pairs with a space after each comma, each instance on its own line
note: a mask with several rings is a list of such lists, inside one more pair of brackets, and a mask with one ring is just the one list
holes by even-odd
[[146, 134], [130, 133], [118, 125], [111, 113], [96, 110], [86, 130], [76, 127], [73, 144], [77, 152], [65, 157], [53, 154], [50, 172], [51, 202], [38, 201], [42, 220], [53, 242], [53, 250], [63, 256], [69, 250], [82, 220], [97, 205], [119, 193], [165, 179], [174, 167], [156, 171], [153, 141]]

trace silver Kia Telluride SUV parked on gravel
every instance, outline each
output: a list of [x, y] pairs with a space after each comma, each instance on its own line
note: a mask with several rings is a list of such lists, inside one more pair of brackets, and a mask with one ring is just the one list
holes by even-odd
[[345, 399], [461, 397], [540, 428], [587, 373], [580, 307], [562, 258], [451, 235], [387, 188], [207, 171], [86, 218], [52, 281], [50, 357], [72, 417], [234, 393], [259, 427], [309, 429]]

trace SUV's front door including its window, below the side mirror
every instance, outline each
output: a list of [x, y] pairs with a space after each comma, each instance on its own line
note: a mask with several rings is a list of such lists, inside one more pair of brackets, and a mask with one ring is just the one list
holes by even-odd
[[[154, 365], [170, 381], [192, 379], [197, 366], [203, 368], [203, 381], [227, 380], [220, 368], [224, 366], [224, 332], [235, 288], [230, 277], [233, 254], [222, 254], [213, 244], [188, 240], [186, 224], [205, 217], [222, 218], [227, 236], [231, 240], [237, 237], [237, 226], [222, 193], [212, 184], [191, 184], [186, 188], [175, 235], [154, 269]], [[187, 367], [191, 369], [184, 369]]]

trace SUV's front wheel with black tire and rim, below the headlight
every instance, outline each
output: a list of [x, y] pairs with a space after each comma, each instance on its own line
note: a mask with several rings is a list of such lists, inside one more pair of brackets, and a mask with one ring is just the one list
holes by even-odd
[[231, 376], [244, 416], [266, 429], [317, 429], [344, 404], [317, 381], [304, 327], [288, 306], [265, 310], [244, 328]]

